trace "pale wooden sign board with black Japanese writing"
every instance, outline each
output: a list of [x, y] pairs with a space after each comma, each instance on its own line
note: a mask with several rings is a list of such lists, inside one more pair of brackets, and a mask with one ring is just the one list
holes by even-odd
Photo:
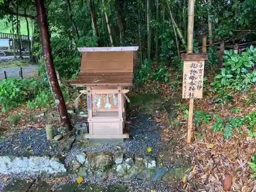
[[204, 61], [184, 61], [183, 99], [203, 97]]

